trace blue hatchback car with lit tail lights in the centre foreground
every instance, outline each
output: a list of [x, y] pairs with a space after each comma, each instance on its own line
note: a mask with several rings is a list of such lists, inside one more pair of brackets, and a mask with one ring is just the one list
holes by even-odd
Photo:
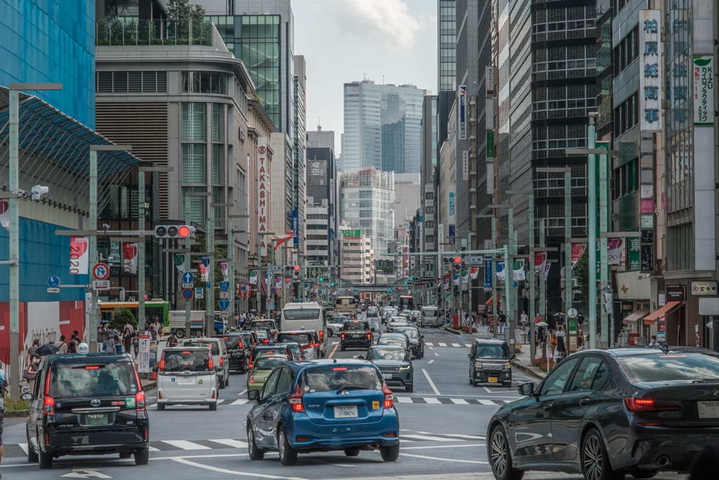
[[400, 453], [399, 417], [380, 370], [354, 359], [285, 362], [267, 376], [247, 414], [249, 458], [280, 453], [294, 465], [299, 452], [380, 450], [384, 461]]

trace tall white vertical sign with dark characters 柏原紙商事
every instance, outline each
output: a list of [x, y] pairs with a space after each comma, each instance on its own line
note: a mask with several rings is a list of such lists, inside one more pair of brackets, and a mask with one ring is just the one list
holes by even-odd
[[639, 111], [642, 132], [661, 132], [661, 14], [639, 10]]

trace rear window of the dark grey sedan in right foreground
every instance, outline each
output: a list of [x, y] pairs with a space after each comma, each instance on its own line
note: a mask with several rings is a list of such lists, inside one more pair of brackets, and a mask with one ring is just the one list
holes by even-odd
[[619, 363], [633, 381], [719, 379], [719, 358], [700, 353], [627, 356]]

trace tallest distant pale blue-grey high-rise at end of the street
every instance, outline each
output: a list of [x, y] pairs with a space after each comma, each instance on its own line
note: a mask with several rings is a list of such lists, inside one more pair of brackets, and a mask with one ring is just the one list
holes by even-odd
[[345, 83], [342, 168], [419, 173], [425, 94], [413, 85]]

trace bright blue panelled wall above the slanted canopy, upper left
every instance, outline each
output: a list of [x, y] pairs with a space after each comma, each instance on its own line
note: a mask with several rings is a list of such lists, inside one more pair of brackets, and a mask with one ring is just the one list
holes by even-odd
[[0, 85], [63, 83], [32, 91], [95, 128], [95, 19], [85, 0], [4, 0], [0, 4]]

